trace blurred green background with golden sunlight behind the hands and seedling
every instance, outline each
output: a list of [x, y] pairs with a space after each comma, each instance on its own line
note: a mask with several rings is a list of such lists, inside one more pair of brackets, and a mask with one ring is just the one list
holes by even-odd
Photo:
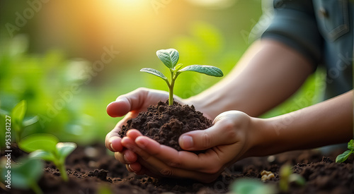
[[[166, 73], [156, 50], [177, 49], [180, 63], [210, 64], [227, 74], [251, 43], [247, 37], [261, 14], [259, 0], [0, 1], [1, 110], [7, 114], [27, 101], [25, 117], [39, 121], [23, 136], [103, 143], [119, 121], [106, 114], [107, 104], [137, 87], [167, 90], [159, 78], [139, 72]], [[321, 75], [263, 117], [318, 102]], [[175, 94], [187, 98], [218, 80], [185, 73]], [[3, 132], [0, 138], [4, 142]]]

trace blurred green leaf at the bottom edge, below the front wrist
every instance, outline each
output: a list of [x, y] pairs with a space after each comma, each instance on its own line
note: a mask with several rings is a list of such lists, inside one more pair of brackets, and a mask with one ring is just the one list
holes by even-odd
[[232, 193], [235, 194], [270, 194], [275, 193], [275, 188], [256, 179], [241, 178], [232, 183]]

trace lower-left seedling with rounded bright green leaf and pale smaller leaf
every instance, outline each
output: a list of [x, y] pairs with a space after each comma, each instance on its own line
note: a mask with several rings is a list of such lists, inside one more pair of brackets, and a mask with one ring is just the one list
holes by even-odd
[[65, 169], [65, 159], [75, 150], [76, 143], [59, 143], [54, 135], [38, 133], [21, 140], [19, 147], [25, 152], [30, 152], [29, 157], [31, 158], [53, 162], [59, 169], [62, 179], [69, 180]]

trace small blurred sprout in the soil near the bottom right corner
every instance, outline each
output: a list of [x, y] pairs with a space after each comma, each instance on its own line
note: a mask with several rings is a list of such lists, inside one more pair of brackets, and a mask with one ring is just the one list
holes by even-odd
[[299, 174], [292, 173], [292, 169], [289, 164], [283, 165], [279, 170], [279, 174], [279, 188], [283, 192], [287, 192], [289, 190], [290, 183], [297, 183], [298, 186], [304, 186], [306, 183], [304, 177]]

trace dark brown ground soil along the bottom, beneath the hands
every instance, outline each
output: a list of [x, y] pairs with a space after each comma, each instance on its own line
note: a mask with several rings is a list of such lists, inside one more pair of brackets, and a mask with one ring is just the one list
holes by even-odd
[[[12, 148], [16, 150], [15, 147]], [[199, 183], [197, 181], [137, 176], [128, 172], [103, 143], [79, 146], [67, 158], [69, 181], [63, 182], [59, 171], [50, 163], [45, 163], [44, 174], [39, 185], [44, 193], [228, 193], [229, 186], [239, 178], [261, 180], [261, 171], [272, 171], [275, 178], [266, 184], [278, 186], [279, 169], [290, 164], [295, 173], [303, 176], [305, 186], [290, 185], [288, 193], [354, 193], [353, 157], [342, 164], [333, 162], [343, 150], [336, 150], [324, 156], [318, 150], [285, 152], [270, 157], [251, 157], [242, 159], [226, 169], [216, 181]], [[25, 155], [16, 152], [13, 160]], [[1, 152], [4, 157], [4, 152]], [[16, 180], [13, 180], [16, 181]], [[0, 193], [32, 193], [30, 190], [11, 188]]]

